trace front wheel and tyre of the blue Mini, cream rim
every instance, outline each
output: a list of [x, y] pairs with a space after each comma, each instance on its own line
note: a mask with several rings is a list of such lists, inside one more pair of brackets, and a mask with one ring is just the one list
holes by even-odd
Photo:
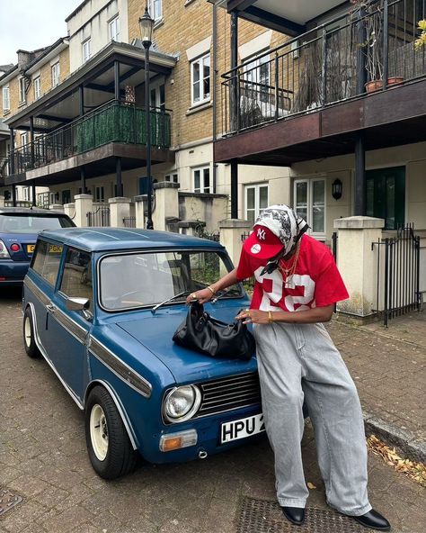
[[93, 469], [103, 479], [116, 479], [134, 469], [138, 452], [131, 446], [110, 393], [102, 386], [95, 386], [87, 399], [85, 439]]

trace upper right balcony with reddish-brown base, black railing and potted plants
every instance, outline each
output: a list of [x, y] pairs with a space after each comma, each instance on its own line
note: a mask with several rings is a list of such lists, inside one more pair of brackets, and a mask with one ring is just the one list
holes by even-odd
[[[426, 50], [413, 46], [425, 4], [377, 0], [363, 11], [352, 6], [226, 72], [217, 162], [288, 165], [349, 153], [351, 133], [364, 129], [368, 149], [412, 141], [413, 126], [417, 139], [426, 139], [419, 123], [426, 114]], [[390, 131], [393, 122], [401, 122], [401, 129]]]

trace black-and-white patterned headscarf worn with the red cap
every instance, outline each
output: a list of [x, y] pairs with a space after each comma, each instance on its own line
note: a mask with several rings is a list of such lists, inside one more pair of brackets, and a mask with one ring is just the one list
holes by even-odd
[[265, 226], [276, 235], [283, 247], [284, 256], [295, 248], [298, 239], [309, 228], [307, 222], [288, 205], [270, 205], [264, 209], [254, 222], [254, 226]]

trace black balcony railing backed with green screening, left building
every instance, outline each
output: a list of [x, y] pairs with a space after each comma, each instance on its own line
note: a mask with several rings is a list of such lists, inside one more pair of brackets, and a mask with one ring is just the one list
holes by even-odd
[[[151, 109], [151, 146], [170, 148], [170, 114]], [[38, 137], [10, 157], [13, 174], [43, 167], [81, 154], [109, 142], [146, 144], [146, 110], [135, 104], [112, 100], [83, 117]]]

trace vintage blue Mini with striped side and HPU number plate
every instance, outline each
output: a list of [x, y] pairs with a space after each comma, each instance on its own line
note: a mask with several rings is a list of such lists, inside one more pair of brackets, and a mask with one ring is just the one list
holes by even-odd
[[[188, 294], [232, 269], [217, 242], [154, 230], [40, 233], [24, 280], [23, 340], [85, 412], [97, 474], [205, 458], [264, 430], [256, 359], [215, 359], [173, 343]], [[232, 322], [241, 285], [206, 305]], [[230, 354], [232, 356], [232, 354]]]

